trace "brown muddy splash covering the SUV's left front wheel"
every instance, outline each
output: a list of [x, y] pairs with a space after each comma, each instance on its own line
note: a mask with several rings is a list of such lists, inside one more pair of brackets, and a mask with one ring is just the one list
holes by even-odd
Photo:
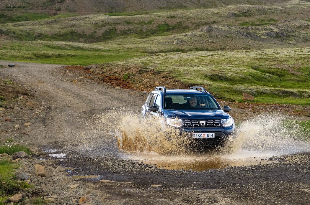
[[[122, 114], [125, 113], [125, 114]], [[109, 127], [117, 137], [118, 148], [124, 152], [156, 152], [160, 154], [188, 152], [191, 142], [178, 129], [168, 127], [164, 119], [112, 110], [100, 117], [99, 123]]]

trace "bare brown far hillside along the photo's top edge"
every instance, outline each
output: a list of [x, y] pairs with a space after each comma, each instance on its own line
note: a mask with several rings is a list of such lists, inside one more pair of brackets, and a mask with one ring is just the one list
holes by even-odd
[[106, 12], [140, 12], [167, 11], [188, 8], [210, 8], [234, 4], [272, 4], [281, 0], [2, 0], [0, 11], [43, 11], [45, 13], [72, 12], [77, 14], [93, 14]]

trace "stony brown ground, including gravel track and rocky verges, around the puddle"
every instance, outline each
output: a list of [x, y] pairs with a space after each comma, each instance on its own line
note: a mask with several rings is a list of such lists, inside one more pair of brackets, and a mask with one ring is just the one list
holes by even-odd
[[[309, 204], [308, 152], [202, 172], [161, 169], [124, 159], [116, 139], [95, 123], [96, 115], [119, 106], [138, 112], [147, 94], [55, 65], [18, 63], [0, 68], [0, 75], [0, 95], [7, 98], [0, 137], [34, 153], [16, 162], [15, 175], [24, 173], [33, 185], [19, 193], [21, 203], [42, 197], [43, 204]], [[264, 110], [307, 117], [299, 106], [228, 105], [236, 121]]]

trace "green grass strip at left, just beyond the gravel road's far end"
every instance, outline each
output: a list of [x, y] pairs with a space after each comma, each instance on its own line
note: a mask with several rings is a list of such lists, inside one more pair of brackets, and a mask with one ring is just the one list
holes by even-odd
[[[1, 43], [1, 41], [0, 41]], [[134, 49], [115, 49], [99, 45], [70, 42], [5, 41], [0, 49], [1, 60], [51, 63], [63, 65], [89, 65], [113, 62], [144, 55]]]

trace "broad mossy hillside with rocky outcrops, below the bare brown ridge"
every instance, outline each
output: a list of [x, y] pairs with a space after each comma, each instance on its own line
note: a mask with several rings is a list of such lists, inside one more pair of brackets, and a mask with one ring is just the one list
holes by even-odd
[[309, 11], [310, 3], [291, 1], [134, 16], [94, 14], [62, 18], [64, 15], [61, 15], [53, 19], [0, 24], [0, 35], [11, 40], [94, 43], [115, 38], [147, 38], [200, 31], [205, 35], [187, 33], [187, 39], [198, 44], [206, 37], [220, 41], [237, 38], [259, 43], [294, 44], [309, 41]]

